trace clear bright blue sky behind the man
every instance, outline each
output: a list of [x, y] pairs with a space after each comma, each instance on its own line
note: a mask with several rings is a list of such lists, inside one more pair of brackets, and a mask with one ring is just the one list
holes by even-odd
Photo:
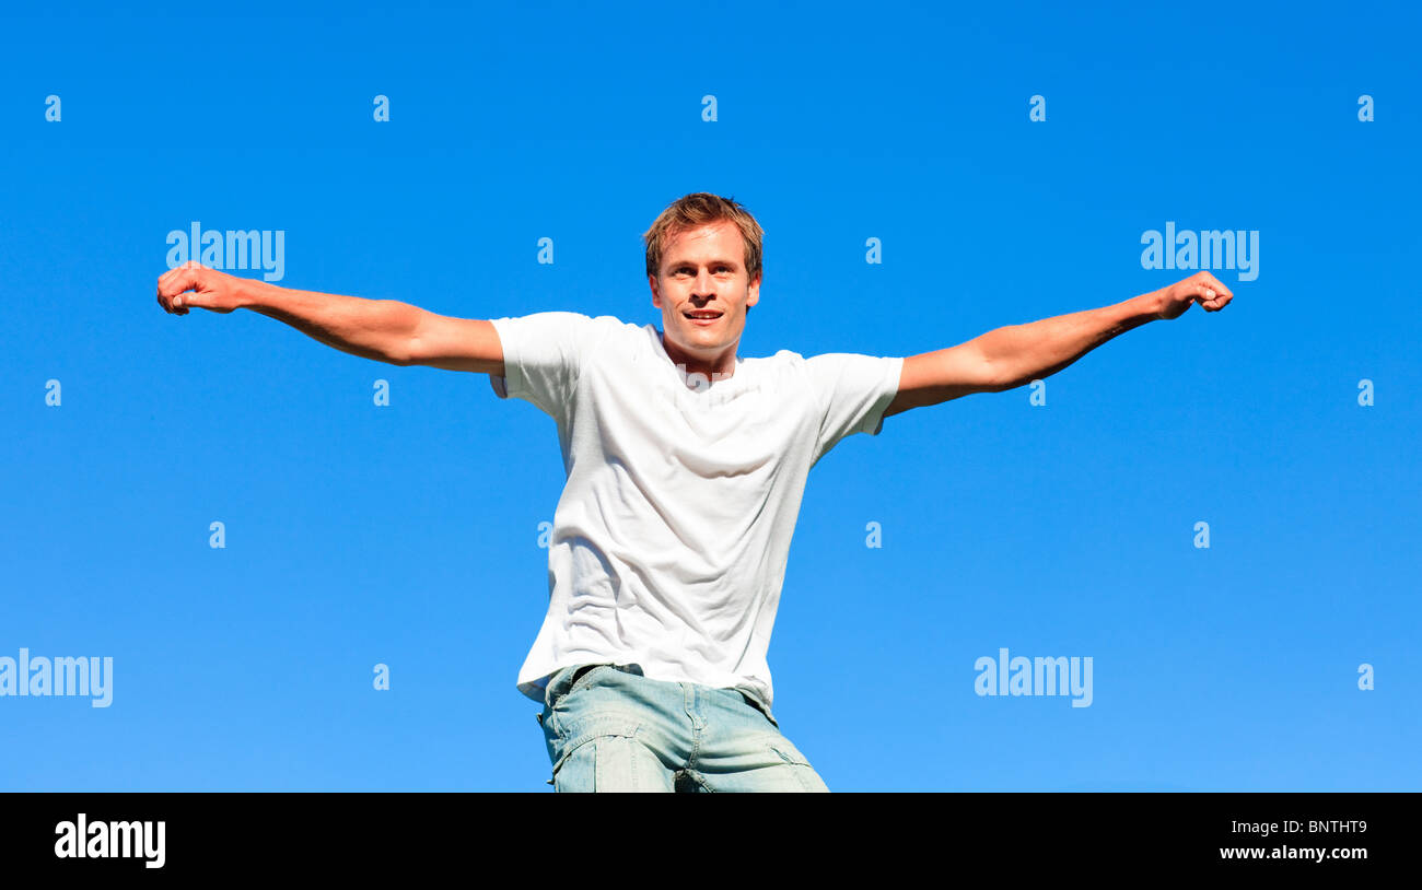
[[[0, 698], [0, 788], [549, 790], [515, 680], [552, 419], [168, 316], [165, 239], [283, 230], [290, 287], [660, 324], [640, 233], [711, 191], [766, 230], [742, 355], [941, 348], [1185, 277], [1140, 263], [1167, 222], [1260, 233], [1224, 311], [815, 468], [769, 660], [832, 789], [1422, 789], [1415, 11], [198, 9], [0, 28], [0, 657], [114, 658], [109, 708]], [[978, 697], [1001, 647], [1092, 657], [1092, 705]]]

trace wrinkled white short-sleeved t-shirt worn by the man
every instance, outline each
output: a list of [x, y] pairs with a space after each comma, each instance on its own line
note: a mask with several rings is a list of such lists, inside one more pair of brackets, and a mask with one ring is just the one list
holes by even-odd
[[489, 382], [557, 422], [567, 473], [519, 691], [542, 701], [557, 670], [610, 661], [769, 708], [765, 654], [805, 479], [846, 435], [879, 434], [903, 358], [781, 350], [708, 382], [671, 361], [653, 324], [567, 311], [492, 323], [505, 377]]

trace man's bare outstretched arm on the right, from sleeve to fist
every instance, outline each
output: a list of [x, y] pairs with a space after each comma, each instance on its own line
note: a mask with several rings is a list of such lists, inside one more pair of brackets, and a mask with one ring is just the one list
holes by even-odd
[[1061, 371], [1116, 334], [1182, 316], [1193, 303], [1224, 309], [1234, 293], [1209, 272], [1115, 306], [991, 330], [947, 350], [903, 360], [884, 417], [973, 392], [1001, 392]]

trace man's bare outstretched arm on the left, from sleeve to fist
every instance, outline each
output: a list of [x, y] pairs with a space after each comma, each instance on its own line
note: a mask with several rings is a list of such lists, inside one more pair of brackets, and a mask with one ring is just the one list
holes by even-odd
[[400, 300], [293, 290], [186, 263], [159, 276], [158, 304], [176, 316], [192, 307], [215, 313], [250, 309], [361, 358], [503, 375], [503, 348], [493, 324], [438, 316]]

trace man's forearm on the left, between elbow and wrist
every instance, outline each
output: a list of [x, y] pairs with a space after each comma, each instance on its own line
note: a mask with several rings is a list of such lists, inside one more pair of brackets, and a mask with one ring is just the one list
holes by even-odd
[[242, 307], [284, 321], [326, 345], [390, 364], [404, 364], [419, 313], [400, 300], [367, 300], [277, 287], [240, 279]]

